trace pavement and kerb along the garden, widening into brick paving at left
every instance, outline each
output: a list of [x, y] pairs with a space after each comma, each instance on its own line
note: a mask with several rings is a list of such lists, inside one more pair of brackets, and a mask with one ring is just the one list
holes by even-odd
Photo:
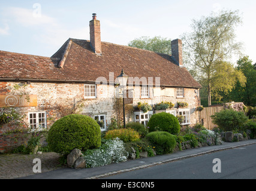
[[[225, 149], [233, 149], [249, 144], [256, 144], [256, 139], [233, 143], [223, 142], [221, 145], [186, 149], [168, 155], [128, 160], [119, 164], [110, 164], [103, 167], [84, 168], [80, 170], [58, 166], [59, 155], [57, 153], [43, 153], [41, 155], [0, 155], [0, 179], [98, 179], [113, 174], [148, 168], [154, 165], [161, 165], [167, 162], [204, 155], [211, 152], [219, 152]], [[34, 173], [32, 171], [32, 168], [35, 165], [33, 159], [35, 158], [41, 159], [41, 173]]]

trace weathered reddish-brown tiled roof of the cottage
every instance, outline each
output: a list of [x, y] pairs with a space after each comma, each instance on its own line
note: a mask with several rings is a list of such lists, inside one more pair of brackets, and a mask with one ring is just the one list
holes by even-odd
[[124, 69], [131, 77], [160, 77], [164, 86], [201, 87], [185, 67], [174, 64], [167, 54], [108, 42], [101, 42], [101, 46], [101, 56], [91, 50], [89, 41], [79, 39], [68, 39], [50, 58], [0, 51], [0, 81], [12, 78], [93, 82], [100, 76], [109, 80], [109, 72], [116, 78]]

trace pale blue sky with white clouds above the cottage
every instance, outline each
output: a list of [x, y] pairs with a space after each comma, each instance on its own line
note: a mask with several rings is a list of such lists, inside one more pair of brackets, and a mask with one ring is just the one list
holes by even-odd
[[128, 45], [141, 36], [177, 39], [191, 30], [192, 19], [239, 10], [236, 41], [255, 63], [255, 9], [255, 0], [0, 0], [0, 50], [50, 57], [68, 38], [89, 40], [92, 13], [101, 22], [101, 41]]

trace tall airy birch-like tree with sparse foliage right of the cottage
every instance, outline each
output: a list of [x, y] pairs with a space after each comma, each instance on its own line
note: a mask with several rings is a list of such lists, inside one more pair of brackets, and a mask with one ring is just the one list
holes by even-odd
[[235, 27], [241, 24], [239, 11], [220, 11], [208, 17], [192, 20], [192, 32], [183, 34], [183, 51], [198, 76], [207, 84], [208, 104], [211, 104], [212, 84], [219, 63], [234, 53], [241, 44], [234, 42]]

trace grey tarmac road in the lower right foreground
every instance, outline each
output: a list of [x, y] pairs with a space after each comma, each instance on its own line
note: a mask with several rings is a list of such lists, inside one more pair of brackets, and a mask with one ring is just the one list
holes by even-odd
[[[256, 144], [186, 158], [167, 164], [124, 172], [104, 179], [256, 178]], [[213, 164], [213, 159], [221, 163]], [[213, 172], [213, 166], [218, 165]]]

